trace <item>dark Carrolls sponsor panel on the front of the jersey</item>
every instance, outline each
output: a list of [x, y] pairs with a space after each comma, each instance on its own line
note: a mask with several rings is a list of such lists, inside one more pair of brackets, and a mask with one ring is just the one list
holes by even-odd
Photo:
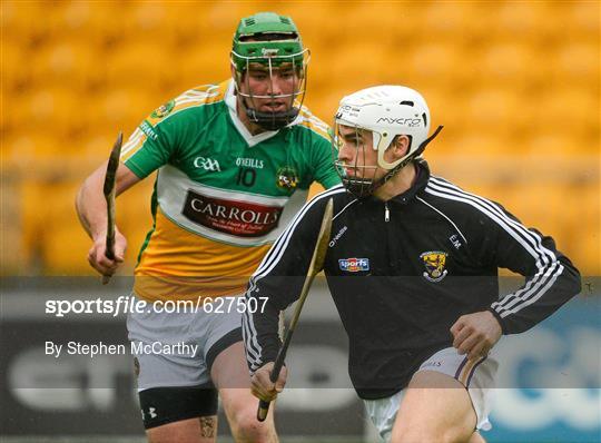
[[277, 227], [283, 208], [226, 200], [188, 190], [181, 214], [198, 225], [238, 237], [262, 237]]

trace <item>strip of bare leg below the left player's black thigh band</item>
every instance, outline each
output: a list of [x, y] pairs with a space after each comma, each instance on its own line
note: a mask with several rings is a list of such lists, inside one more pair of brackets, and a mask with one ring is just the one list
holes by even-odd
[[214, 443], [217, 416], [188, 419], [146, 431], [149, 443]]

